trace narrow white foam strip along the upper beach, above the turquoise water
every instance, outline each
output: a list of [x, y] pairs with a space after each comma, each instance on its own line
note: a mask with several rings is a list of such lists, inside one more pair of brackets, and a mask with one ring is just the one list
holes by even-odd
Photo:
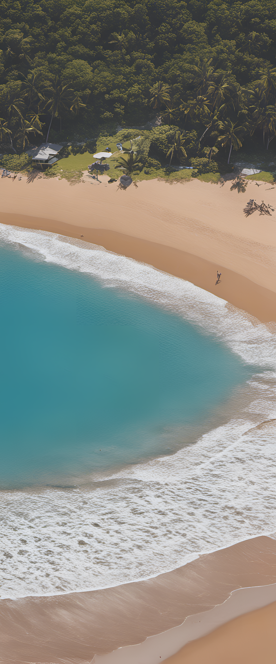
[[41, 230], [0, 224], [0, 239], [19, 243], [58, 265], [91, 274], [106, 286], [124, 288], [159, 303], [222, 339], [251, 364], [276, 369], [275, 335], [224, 299], [97, 245]]

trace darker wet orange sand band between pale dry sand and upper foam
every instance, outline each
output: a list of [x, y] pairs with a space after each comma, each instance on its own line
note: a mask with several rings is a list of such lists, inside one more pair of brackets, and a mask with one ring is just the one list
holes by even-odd
[[[11, 223], [10, 216], [13, 216], [13, 223]], [[83, 239], [85, 242], [97, 244], [97, 246], [102, 246], [114, 254], [132, 258], [161, 272], [191, 282], [195, 286], [225, 299], [230, 305], [246, 311], [261, 322], [276, 322], [276, 293], [259, 286], [259, 284], [254, 284], [254, 282], [232, 270], [228, 270], [217, 263], [211, 263], [194, 254], [188, 254], [173, 247], [124, 235], [113, 230], [87, 229], [73, 226], [73, 224], [61, 224], [61, 222], [50, 219], [28, 217], [24, 220], [19, 215], [3, 215], [0, 213], [0, 223], [21, 228], [46, 230], [61, 236], [75, 238], [76, 240]], [[85, 238], [81, 237], [80, 231], [85, 233]], [[216, 270], [223, 272], [226, 281], [226, 283], [221, 282], [218, 285], [220, 291], [218, 291], [214, 282]]]

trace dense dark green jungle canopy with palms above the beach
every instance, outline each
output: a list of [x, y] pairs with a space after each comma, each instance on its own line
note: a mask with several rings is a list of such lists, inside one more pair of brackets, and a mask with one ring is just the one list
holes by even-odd
[[245, 139], [269, 148], [275, 15], [274, 0], [0, 0], [2, 153], [154, 116], [160, 159], [207, 168]]

